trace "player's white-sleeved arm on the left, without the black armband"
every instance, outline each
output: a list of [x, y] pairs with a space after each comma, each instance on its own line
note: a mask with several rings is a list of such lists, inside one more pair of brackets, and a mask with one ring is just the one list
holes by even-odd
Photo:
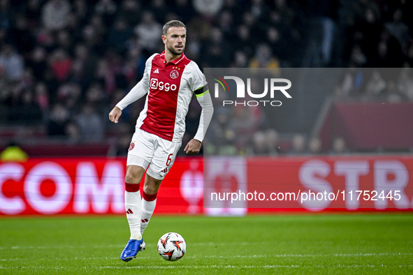
[[119, 101], [112, 111], [110, 111], [110, 121], [117, 123], [122, 114], [122, 110], [124, 110], [127, 105], [137, 101], [139, 98], [147, 94], [147, 91], [149, 91], [150, 68], [152, 66], [152, 59], [155, 55], [156, 54], [147, 59], [142, 80], [140, 80], [140, 82], [138, 82], [138, 84], [136, 84], [135, 87], [133, 87], [124, 98], [122, 98], [122, 101]]

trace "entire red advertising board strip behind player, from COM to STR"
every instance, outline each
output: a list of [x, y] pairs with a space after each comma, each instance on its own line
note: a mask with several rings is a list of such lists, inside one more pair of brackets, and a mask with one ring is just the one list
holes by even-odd
[[[0, 163], [0, 214], [124, 214], [125, 171], [124, 158]], [[162, 182], [155, 214], [412, 210], [412, 197], [412, 156], [189, 157]]]

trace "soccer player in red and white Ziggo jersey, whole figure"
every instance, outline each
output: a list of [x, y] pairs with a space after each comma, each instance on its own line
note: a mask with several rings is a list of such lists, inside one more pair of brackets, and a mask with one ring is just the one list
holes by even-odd
[[[145, 249], [143, 231], [154, 211], [159, 186], [181, 147], [192, 95], [195, 93], [202, 112], [198, 131], [184, 148], [187, 154], [198, 154], [214, 111], [205, 76], [184, 55], [187, 27], [178, 20], [166, 23], [162, 40], [165, 51], [147, 59], [143, 79], [109, 113], [110, 121], [117, 123], [127, 105], [147, 94], [126, 161], [125, 209], [131, 237], [120, 255], [125, 262]], [[145, 171], [140, 198], [139, 184]]]

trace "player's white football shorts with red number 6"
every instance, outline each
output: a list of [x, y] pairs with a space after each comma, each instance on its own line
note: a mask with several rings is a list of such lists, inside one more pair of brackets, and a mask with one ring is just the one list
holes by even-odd
[[171, 142], [137, 128], [129, 146], [126, 165], [138, 165], [155, 179], [164, 179], [182, 142]]

